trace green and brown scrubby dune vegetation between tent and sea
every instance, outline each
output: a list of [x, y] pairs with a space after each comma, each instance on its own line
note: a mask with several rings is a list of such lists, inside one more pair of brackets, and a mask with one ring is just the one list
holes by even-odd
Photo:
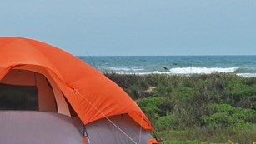
[[256, 141], [256, 77], [105, 75], [138, 103], [164, 144]]

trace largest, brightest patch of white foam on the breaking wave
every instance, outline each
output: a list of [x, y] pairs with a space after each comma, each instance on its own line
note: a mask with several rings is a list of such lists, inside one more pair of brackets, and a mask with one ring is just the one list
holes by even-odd
[[172, 74], [210, 74], [213, 72], [231, 73], [238, 70], [239, 67], [177, 67], [171, 68]]

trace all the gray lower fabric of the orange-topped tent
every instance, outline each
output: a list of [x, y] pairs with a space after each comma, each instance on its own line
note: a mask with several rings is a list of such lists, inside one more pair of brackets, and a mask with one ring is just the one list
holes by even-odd
[[[136, 143], [146, 144], [152, 137], [127, 114], [109, 119]], [[106, 118], [85, 127], [92, 144], [134, 143]], [[0, 111], [1, 144], [83, 144], [82, 133], [83, 124], [78, 117], [55, 112]]]

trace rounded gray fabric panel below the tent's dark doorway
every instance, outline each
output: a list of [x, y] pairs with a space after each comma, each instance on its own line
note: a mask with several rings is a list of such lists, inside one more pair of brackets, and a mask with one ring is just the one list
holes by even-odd
[[56, 112], [1, 111], [1, 144], [82, 144], [71, 117]]

